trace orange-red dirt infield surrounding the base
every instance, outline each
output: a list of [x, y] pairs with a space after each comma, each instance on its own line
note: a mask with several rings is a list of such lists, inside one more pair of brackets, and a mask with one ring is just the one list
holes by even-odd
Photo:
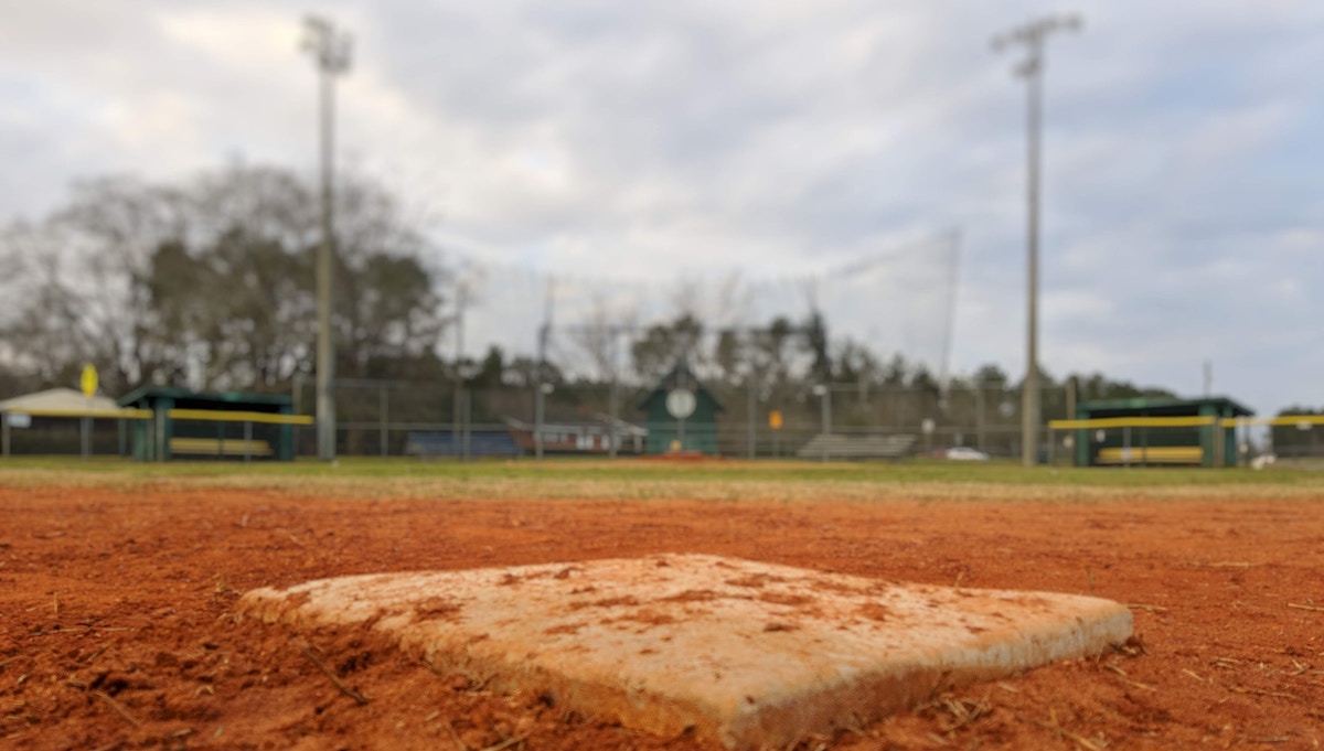
[[704, 748], [433, 674], [365, 632], [303, 640], [230, 615], [265, 584], [665, 551], [1094, 594], [1135, 612], [1140, 644], [935, 690], [914, 713], [804, 750], [1324, 743], [1324, 504], [1311, 498], [307, 492], [0, 485], [0, 747]]

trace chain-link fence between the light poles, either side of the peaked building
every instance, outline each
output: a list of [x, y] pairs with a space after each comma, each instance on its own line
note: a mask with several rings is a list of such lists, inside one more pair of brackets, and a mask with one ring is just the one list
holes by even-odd
[[[990, 456], [1019, 456], [1021, 397], [1004, 385], [956, 385], [945, 393], [904, 386], [843, 385], [769, 387], [707, 385], [720, 403], [716, 454], [728, 457], [794, 457], [821, 434], [911, 436], [912, 454], [969, 447]], [[549, 455], [634, 456], [647, 430], [639, 409], [650, 389], [639, 383], [545, 383], [543, 415], [534, 386], [454, 381], [351, 381], [336, 387], [336, 443], [344, 456], [532, 456], [542, 424]], [[311, 411], [312, 385], [295, 393], [295, 411]], [[1042, 419], [1067, 418], [1062, 387], [1043, 390]], [[773, 413], [780, 415], [779, 422]], [[1049, 446], [1041, 455], [1070, 460]], [[614, 446], [613, 446], [614, 444]], [[316, 455], [311, 427], [295, 427], [295, 454]], [[809, 454], [808, 457], [816, 457]]]

